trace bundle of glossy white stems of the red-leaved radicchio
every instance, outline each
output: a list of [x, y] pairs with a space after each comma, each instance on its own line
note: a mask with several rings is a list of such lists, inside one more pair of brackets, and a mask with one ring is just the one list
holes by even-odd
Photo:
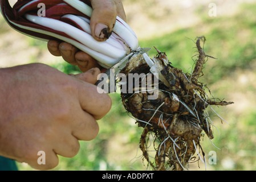
[[[40, 0], [34, 0], [26, 3], [26, 5], [22, 6], [18, 12], [25, 14], [26, 11], [30, 7], [35, 7]], [[79, 0], [63, 0], [65, 3], [60, 3], [58, 5], [53, 6], [60, 6], [60, 5], [70, 5], [74, 7], [76, 10], [82, 12], [83, 14], [90, 17], [92, 15], [92, 7], [88, 6], [86, 3], [79, 1]], [[67, 3], [67, 4], [66, 4]], [[77, 15], [63, 15], [63, 19], [69, 19], [75, 24], [79, 26], [76, 28], [71, 24], [62, 22], [61, 20], [47, 18], [43, 16], [36, 16], [31, 14], [24, 15], [27, 20], [32, 23], [39, 24], [42, 27], [47, 27], [57, 32], [63, 32], [65, 35], [59, 35], [58, 33], [53, 32], [52, 30], [42, 30], [40, 28], [33, 28], [33, 25], [25, 26], [22, 23], [19, 24], [10, 20], [7, 16], [5, 16], [6, 20], [9, 20], [10, 25], [15, 25], [21, 30], [17, 30], [22, 34], [28, 35], [24, 33], [23, 30], [29, 30], [32, 32], [37, 32], [39, 34], [48, 35], [53, 38], [57, 38], [63, 40], [64, 42], [70, 43], [73, 46], [81, 49], [82, 51], [88, 53], [92, 57], [94, 57], [99, 64], [102, 65], [104, 68], [109, 68], [112, 65], [119, 62], [119, 60], [123, 59], [127, 55], [127, 52], [132, 50], [136, 50], [139, 47], [139, 43], [137, 41], [137, 37], [135, 32], [133, 32], [132, 28], [128, 26], [127, 23], [124, 22], [120, 17], [116, 17], [116, 24], [113, 28], [112, 35], [109, 37], [108, 40], [104, 42], [97, 42], [92, 37], [91, 27], [90, 27], [90, 19], [87, 19], [83, 16]], [[14, 27], [15, 27], [14, 26]], [[14, 28], [15, 29], [15, 28]], [[22, 30], [23, 29], [23, 30]], [[43, 28], [44, 29], [44, 28]], [[26, 32], [26, 31], [25, 31]], [[38, 36], [31, 36], [32, 38], [40, 39]], [[45, 40], [45, 39], [43, 39]], [[46, 40], [47, 41], [47, 40]]]

